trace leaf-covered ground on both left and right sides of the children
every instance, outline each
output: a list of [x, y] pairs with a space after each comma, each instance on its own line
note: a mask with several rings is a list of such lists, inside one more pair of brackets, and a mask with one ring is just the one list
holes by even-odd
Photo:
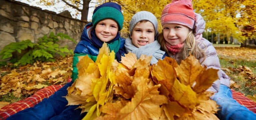
[[[222, 70], [231, 77], [231, 88], [255, 101], [256, 49], [216, 47]], [[59, 58], [55, 62], [37, 62], [22, 67], [0, 68], [0, 101], [16, 102], [33, 95], [39, 89], [66, 84], [72, 74], [73, 57]], [[49, 74], [50, 73], [50, 74]], [[254, 96], [254, 97], [253, 97]]]

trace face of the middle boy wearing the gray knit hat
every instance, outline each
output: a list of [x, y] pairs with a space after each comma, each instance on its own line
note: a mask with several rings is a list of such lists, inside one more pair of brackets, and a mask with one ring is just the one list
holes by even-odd
[[154, 42], [155, 29], [153, 24], [149, 21], [138, 22], [132, 30], [131, 38], [132, 43], [138, 48]]

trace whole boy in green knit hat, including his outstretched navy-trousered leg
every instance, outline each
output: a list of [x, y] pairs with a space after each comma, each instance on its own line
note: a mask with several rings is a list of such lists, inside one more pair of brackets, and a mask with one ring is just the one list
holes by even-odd
[[121, 6], [116, 3], [108, 2], [95, 8], [92, 23], [85, 26], [81, 35], [81, 41], [77, 44], [74, 51], [72, 82], [67, 83], [48, 99], [44, 99], [34, 107], [20, 111], [7, 119], [82, 119], [86, 113], [80, 115], [81, 109], [76, 109], [78, 105], [66, 106], [68, 102], [66, 98], [63, 97], [67, 95], [67, 88], [71, 86], [73, 81], [78, 77], [76, 68], [78, 56], [88, 55], [95, 61], [99, 54], [99, 48], [102, 47], [103, 42], [106, 42], [109, 49], [111, 51], [114, 50], [116, 53], [116, 59], [120, 61], [121, 55], [125, 53], [125, 41], [119, 35], [119, 31], [123, 27], [123, 20]]

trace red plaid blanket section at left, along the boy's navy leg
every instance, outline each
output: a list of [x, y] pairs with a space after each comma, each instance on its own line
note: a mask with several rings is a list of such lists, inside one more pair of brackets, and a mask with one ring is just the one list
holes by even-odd
[[31, 97], [21, 101], [6, 105], [0, 109], [0, 119], [5, 120], [7, 117], [24, 110], [41, 102], [44, 98], [50, 97], [55, 91], [59, 90], [63, 85], [51, 85], [37, 91]]

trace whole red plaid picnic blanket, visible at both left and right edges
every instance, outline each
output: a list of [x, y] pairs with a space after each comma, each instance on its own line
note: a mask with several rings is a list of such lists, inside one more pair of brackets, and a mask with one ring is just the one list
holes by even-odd
[[[59, 90], [63, 85], [51, 85], [37, 91], [31, 97], [25, 98], [24, 100], [6, 105], [0, 108], [0, 119], [5, 120], [7, 117], [24, 110], [29, 107], [33, 107], [37, 103], [41, 102], [44, 98], [48, 98], [55, 91]], [[232, 90], [232, 89], [231, 89]], [[249, 110], [256, 113], [256, 103], [245, 97], [242, 93], [232, 90], [233, 98], [241, 105], [247, 107]]]

